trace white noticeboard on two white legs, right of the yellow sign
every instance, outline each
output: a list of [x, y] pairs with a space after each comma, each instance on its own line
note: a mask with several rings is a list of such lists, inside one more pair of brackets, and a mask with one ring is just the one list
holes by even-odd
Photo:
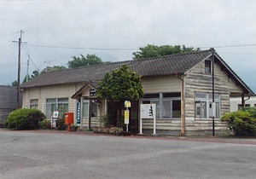
[[154, 130], [153, 135], [156, 135], [156, 113], [155, 104], [141, 104], [141, 115], [140, 115], [140, 133], [143, 134], [143, 118], [153, 118]]

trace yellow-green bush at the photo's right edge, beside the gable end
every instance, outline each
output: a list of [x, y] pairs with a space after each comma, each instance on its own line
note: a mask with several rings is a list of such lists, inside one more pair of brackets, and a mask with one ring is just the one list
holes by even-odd
[[241, 111], [225, 113], [221, 120], [228, 123], [236, 136], [256, 136], [256, 108], [244, 107]]

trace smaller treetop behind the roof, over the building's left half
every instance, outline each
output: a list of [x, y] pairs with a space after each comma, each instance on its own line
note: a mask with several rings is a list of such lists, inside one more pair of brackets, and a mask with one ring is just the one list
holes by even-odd
[[68, 61], [68, 68], [80, 67], [80, 66], [93, 66], [104, 63], [102, 59], [96, 55], [81, 55], [81, 57], [73, 56], [73, 61]]

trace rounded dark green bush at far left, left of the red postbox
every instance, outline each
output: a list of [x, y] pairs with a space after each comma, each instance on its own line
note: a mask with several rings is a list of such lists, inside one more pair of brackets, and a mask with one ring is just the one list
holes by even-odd
[[38, 109], [17, 109], [9, 114], [4, 126], [14, 130], [39, 129], [39, 122], [45, 119], [44, 113]]

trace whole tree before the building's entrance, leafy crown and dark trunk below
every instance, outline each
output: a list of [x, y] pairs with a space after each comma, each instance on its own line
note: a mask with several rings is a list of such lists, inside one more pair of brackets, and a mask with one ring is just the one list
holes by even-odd
[[106, 73], [99, 81], [96, 95], [100, 99], [107, 99], [114, 110], [108, 113], [108, 122], [105, 124], [116, 124], [124, 127], [122, 109], [125, 100], [135, 101], [144, 95], [142, 79], [136, 72], [131, 72], [128, 66], [121, 66], [112, 73]]

